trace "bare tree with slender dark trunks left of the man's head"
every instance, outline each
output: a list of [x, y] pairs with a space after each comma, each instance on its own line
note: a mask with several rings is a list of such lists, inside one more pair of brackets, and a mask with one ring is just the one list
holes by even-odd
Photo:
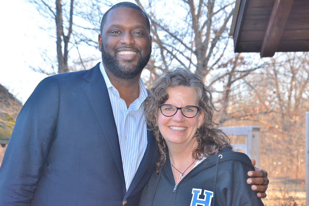
[[[49, 55], [51, 48], [45, 48], [41, 52], [44, 66], [50, 65], [50, 69], [41, 66], [30, 66], [33, 70], [44, 74], [64, 73], [72, 70], [89, 69], [88, 62], [97, 58], [81, 54], [80, 47], [97, 47], [94, 40], [99, 33], [100, 18], [103, 13], [101, 8], [111, 6], [110, 1], [92, 0], [88, 2], [78, 0], [26, 0], [31, 3], [47, 24], [41, 25], [41, 29], [49, 32], [51, 38], [56, 39], [57, 58]], [[74, 24], [77, 20], [78, 24]], [[75, 55], [69, 53], [74, 48]], [[77, 57], [77, 58], [76, 58]]]

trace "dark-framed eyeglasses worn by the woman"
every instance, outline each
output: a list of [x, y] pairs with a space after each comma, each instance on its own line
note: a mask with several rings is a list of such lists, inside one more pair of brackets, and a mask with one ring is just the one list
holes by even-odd
[[195, 117], [200, 110], [200, 107], [197, 106], [176, 107], [171, 104], [160, 104], [159, 107], [164, 116], [173, 116], [180, 109], [183, 116], [188, 118]]

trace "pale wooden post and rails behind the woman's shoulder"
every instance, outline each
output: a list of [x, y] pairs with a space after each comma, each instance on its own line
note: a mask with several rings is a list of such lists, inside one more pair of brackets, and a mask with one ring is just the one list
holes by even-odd
[[248, 127], [222, 127], [223, 131], [228, 135], [235, 136], [247, 136], [246, 143], [241, 145], [235, 145], [235, 149], [245, 149], [245, 154], [249, 158], [255, 159], [255, 167], [260, 165], [260, 127], [248, 126]]

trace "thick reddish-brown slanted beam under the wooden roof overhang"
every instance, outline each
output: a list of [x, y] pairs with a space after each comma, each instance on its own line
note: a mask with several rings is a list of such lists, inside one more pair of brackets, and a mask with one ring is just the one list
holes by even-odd
[[293, 2], [294, 0], [276, 0], [274, 2], [260, 49], [261, 57], [273, 57], [277, 51]]

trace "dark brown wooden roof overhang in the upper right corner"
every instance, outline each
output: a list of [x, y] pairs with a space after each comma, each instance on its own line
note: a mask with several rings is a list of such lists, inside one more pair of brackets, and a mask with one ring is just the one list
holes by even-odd
[[309, 51], [309, 0], [236, 0], [230, 36], [235, 53]]

